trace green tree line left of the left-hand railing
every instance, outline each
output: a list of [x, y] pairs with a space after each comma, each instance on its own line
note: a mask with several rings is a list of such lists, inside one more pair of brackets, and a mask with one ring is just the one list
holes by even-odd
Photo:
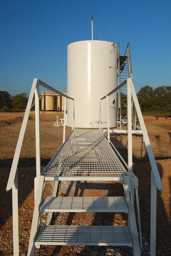
[[16, 94], [11, 96], [6, 91], [0, 91], [0, 109], [1, 111], [24, 111], [28, 102], [26, 93]]

